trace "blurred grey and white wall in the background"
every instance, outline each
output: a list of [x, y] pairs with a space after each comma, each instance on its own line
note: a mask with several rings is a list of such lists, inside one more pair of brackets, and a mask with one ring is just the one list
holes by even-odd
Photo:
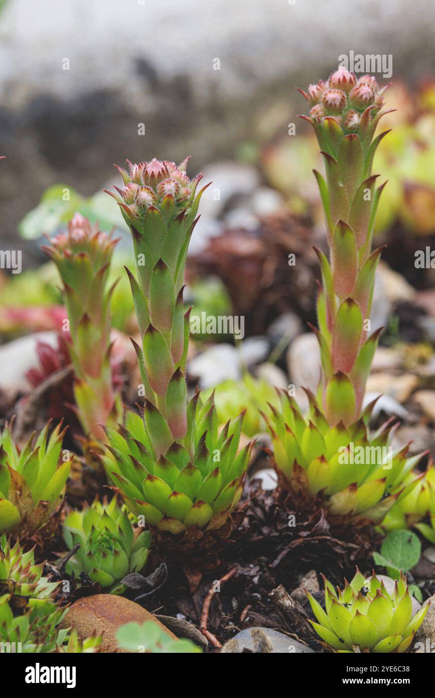
[[303, 108], [295, 85], [350, 50], [420, 80], [434, 34], [434, 0], [6, 0], [0, 235], [47, 186], [91, 195], [125, 157], [191, 153], [197, 171], [280, 137]]

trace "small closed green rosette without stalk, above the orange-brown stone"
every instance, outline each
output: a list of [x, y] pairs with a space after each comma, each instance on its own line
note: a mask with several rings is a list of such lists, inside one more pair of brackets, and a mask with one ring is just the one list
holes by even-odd
[[121, 579], [126, 574], [143, 570], [151, 544], [151, 533], [133, 530], [125, 507], [119, 507], [116, 497], [110, 503], [95, 500], [82, 512], [68, 514], [63, 538], [70, 550], [79, 544], [66, 563], [66, 572], [77, 578], [86, 574], [111, 593], [125, 591]]

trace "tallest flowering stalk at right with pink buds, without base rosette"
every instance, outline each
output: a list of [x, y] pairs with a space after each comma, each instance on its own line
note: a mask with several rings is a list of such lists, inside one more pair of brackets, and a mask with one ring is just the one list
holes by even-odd
[[[337, 70], [303, 92], [325, 163], [326, 181], [314, 170], [326, 217], [330, 260], [316, 249], [322, 285], [317, 302], [322, 364], [321, 401], [331, 426], [360, 416], [365, 381], [381, 329], [367, 337], [374, 274], [382, 248], [372, 252], [374, 217], [383, 186], [372, 162], [379, 142], [374, 132], [382, 94], [374, 77], [357, 81]], [[391, 110], [388, 110], [391, 111]]]

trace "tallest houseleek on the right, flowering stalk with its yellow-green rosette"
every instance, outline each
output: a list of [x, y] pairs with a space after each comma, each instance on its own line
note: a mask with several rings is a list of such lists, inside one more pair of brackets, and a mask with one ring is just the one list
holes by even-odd
[[[381, 254], [381, 248], [372, 252], [374, 217], [383, 189], [383, 185], [376, 189], [378, 175], [372, 174], [372, 161], [388, 133], [374, 138], [386, 113], [381, 110], [383, 91], [374, 77], [356, 80], [341, 69], [303, 92], [311, 107], [303, 119], [314, 128], [326, 168], [326, 180], [314, 171], [330, 251], [328, 260], [316, 249], [322, 282], [319, 329], [312, 329], [319, 341], [321, 383], [317, 396], [310, 395], [307, 417], [286, 396], [282, 410], [271, 407], [268, 415], [284, 487], [296, 494], [303, 491], [308, 498], [326, 497], [333, 514], [365, 514], [374, 521], [381, 521], [415, 486], [414, 480], [405, 486], [404, 478], [418, 461], [418, 457], [407, 459], [408, 447], [388, 451], [391, 427], [386, 424], [370, 433], [370, 408], [361, 413], [381, 332], [367, 331]], [[357, 447], [358, 458], [353, 459]]]

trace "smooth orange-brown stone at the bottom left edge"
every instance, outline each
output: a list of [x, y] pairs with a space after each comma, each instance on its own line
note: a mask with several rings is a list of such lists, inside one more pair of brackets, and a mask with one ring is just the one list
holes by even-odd
[[59, 627], [75, 628], [81, 638], [89, 637], [93, 632], [104, 632], [102, 652], [126, 653], [128, 650], [121, 650], [116, 644], [116, 631], [125, 623], [142, 624], [145, 621], [157, 623], [169, 637], [178, 639], [142, 606], [114, 594], [96, 594], [75, 601]]

